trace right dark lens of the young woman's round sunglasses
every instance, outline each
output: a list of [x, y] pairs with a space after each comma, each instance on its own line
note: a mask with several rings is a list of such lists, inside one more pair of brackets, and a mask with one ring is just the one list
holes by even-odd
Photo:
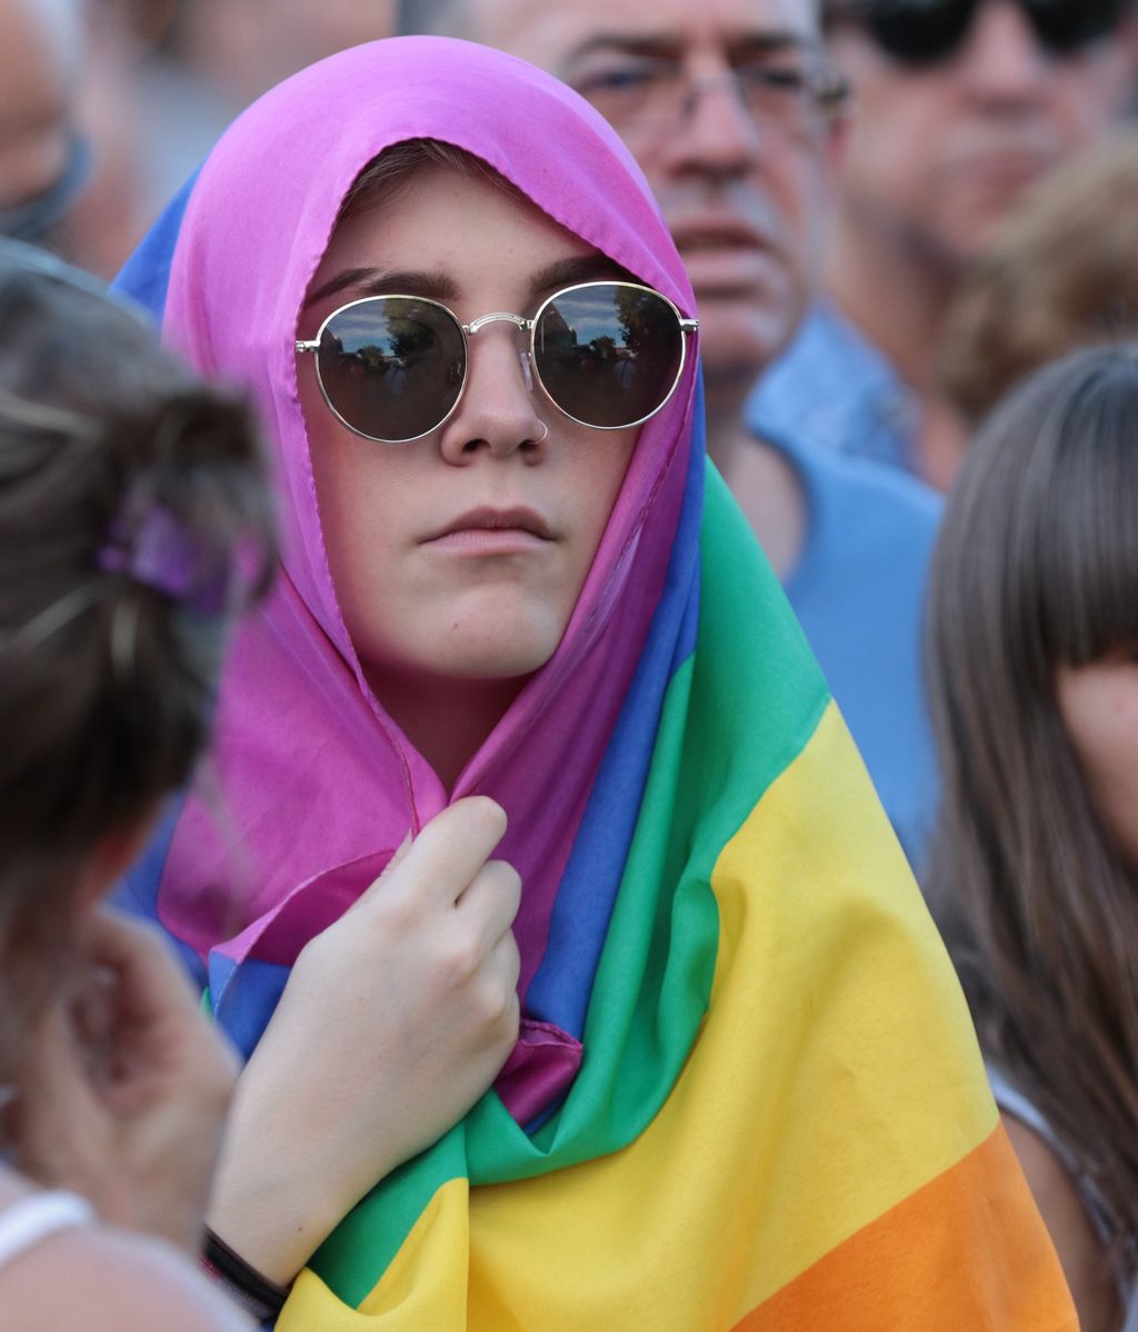
[[667, 400], [683, 338], [663, 296], [599, 282], [550, 301], [538, 320], [534, 354], [542, 385], [562, 412], [584, 425], [624, 426]]

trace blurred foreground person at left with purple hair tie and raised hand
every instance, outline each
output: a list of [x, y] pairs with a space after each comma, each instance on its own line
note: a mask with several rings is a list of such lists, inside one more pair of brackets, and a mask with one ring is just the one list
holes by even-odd
[[93, 281], [0, 241], [0, 1323], [13, 1332], [252, 1325], [196, 1269], [232, 1054], [157, 932], [102, 899], [205, 746], [270, 526], [244, 405]]

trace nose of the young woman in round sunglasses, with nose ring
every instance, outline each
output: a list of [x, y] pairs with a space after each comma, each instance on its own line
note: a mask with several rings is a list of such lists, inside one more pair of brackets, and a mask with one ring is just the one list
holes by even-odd
[[536, 461], [547, 430], [538, 398], [528, 388], [528, 353], [522, 334], [507, 322], [479, 328], [467, 337], [466, 385], [454, 416], [439, 437], [447, 462], [466, 465], [479, 454]]

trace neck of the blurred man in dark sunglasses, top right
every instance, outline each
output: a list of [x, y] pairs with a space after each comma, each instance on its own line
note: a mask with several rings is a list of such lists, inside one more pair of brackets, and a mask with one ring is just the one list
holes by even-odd
[[948, 257], [898, 242], [874, 218], [843, 212], [827, 268], [829, 294], [922, 401], [932, 392], [941, 328], [958, 278]]

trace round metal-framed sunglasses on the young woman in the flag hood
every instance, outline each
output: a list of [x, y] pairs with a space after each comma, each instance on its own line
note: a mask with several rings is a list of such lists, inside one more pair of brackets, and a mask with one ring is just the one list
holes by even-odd
[[454, 414], [470, 338], [502, 320], [530, 336], [527, 385], [532, 374], [559, 412], [594, 430], [654, 417], [680, 382], [699, 329], [651, 286], [580, 282], [554, 292], [532, 318], [499, 310], [470, 324], [422, 296], [366, 296], [333, 310], [295, 349], [315, 356], [323, 400], [349, 430], [410, 444]]

